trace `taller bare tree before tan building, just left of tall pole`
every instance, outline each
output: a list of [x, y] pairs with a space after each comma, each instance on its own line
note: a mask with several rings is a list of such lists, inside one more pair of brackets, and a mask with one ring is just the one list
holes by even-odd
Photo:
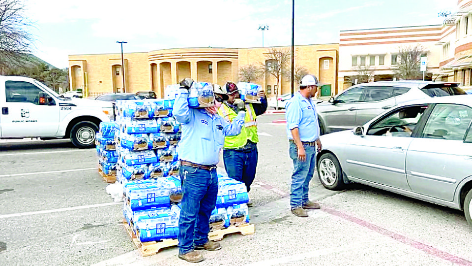
[[[275, 92], [275, 98], [277, 99], [280, 91], [280, 78], [291, 59], [291, 52], [288, 49], [271, 47], [267, 49], [265, 55], [266, 64], [263, 65], [264, 73], [270, 74], [277, 79], [277, 87], [279, 88]], [[278, 105], [277, 101], [277, 108], [279, 107]]]

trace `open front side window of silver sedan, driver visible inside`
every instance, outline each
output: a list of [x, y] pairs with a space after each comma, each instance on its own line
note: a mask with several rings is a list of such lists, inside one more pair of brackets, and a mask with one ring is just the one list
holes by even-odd
[[409, 137], [427, 108], [427, 105], [399, 108], [372, 124], [367, 134]]

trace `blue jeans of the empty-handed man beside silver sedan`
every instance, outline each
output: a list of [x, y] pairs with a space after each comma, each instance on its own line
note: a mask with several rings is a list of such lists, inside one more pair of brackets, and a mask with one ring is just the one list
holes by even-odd
[[306, 161], [298, 160], [296, 144], [290, 142], [289, 154], [294, 161], [294, 171], [292, 173], [292, 186], [290, 189], [290, 206], [292, 209], [301, 207], [308, 202], [308, 185], [313, 178], [316, 167], [316, 147], [303, 144], [306, 153]]

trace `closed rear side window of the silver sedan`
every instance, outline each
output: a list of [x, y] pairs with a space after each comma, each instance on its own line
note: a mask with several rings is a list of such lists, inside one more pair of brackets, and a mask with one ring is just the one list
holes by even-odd
[[437, 104], [421, 137], [462, 140], [472, 120], [472, 108], [460, 104]]

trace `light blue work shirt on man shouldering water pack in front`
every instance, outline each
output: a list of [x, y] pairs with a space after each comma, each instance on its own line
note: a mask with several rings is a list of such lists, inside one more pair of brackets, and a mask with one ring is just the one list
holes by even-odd
[[216, 165], [220, 149], [225, 144], [225, 136], [241, 133], [244, 116], [238, 116], [228, 123], [205, 109], [189, 108], [187, 97], [188, 91], [179, 89], [172, 110], [177, 121], [182, 124], [182, 136], [177, 145], [178, 158], [199, 165]]

